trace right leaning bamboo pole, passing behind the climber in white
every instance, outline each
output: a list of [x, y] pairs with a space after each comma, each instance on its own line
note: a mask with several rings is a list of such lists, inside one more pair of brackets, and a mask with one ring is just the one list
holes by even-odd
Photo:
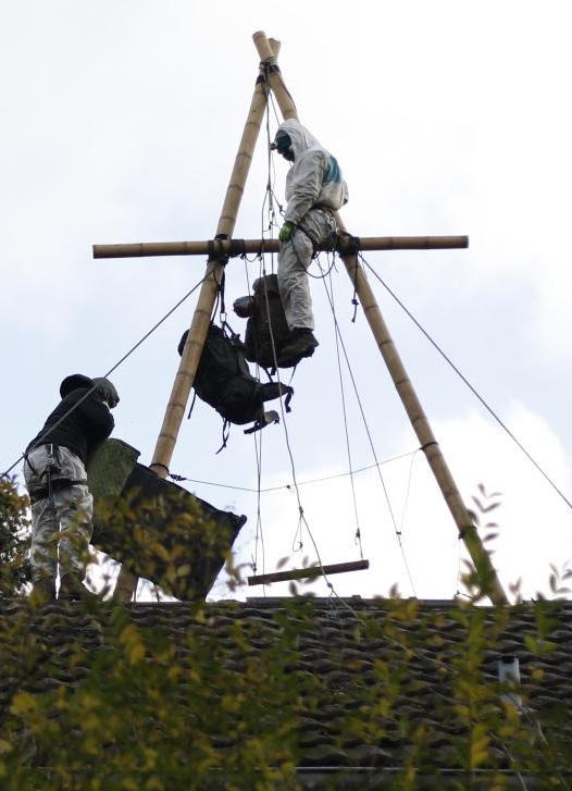
[[[262, 32], [258, 32], [252, 36], [254, 45], [261, 61], [272, 62], [270, 42], [266, 40]], [[288, 92], [279, 69], [271, 70], [269, 73], [270, 87], [276, 96], [276, 101], [284, 119], [298, 118], [294, 100]], [[345, 231], [344, 223], [339, 215], [336, 215], [340, 231]], [[460, 495], [457, 484], [451, 472], [445, 461], [445, 457], [439, 445], [433, 434], [428, 420], [423, 411], [421, 401], [413, 388], [411, 380], [406, 371], [401, 358], [394, 344], [389, 330], [383, 319], [382, 311], [375, 299], [375, 295], [368, 282], [363, 267], [360, 264], [357, 255], [346, 255], [341, 257], [348, 275], [355, 284], [356, 292], [359, 296], [363, 312], [368, 319], [368, 323], [373, 332], [380, 351], [385, 360], [385, 364], [389, 370], [389, 374], [394, 381], [399, 397], [407, 411], [411, 425], [419, 438], [421, 448], [425, 454], [431, 470], [437, 481], [445, 502], [455, 519], [455, 523], [459, 530], [461, 537], [467, 546], [471, 559], [478, 574], [478, 581], [482, 590], [489, 596], [494, 604], [508, 604], [507, 594], [498, 580], [497, 573], [490, 557], [485, 551], [476, 527], [469, 514], [467, 506]]]

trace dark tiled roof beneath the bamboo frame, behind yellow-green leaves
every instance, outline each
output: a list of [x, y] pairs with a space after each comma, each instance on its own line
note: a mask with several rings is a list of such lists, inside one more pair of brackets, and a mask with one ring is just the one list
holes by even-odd
[[[3, 607], [4, 646], [7, 630], [27, 607], [16, 600]], [[311, 787], [322, 788], [326, 775], [340, 770], [353, 778], [360, 773], [390, 776], [408, 764], [456, 776], [465, 771], [463, 751], [485, 713], [492, 717], [487, 728], [503, 720], [512, 725], [507, 743], [485, 733], [488, 747], [486, 758], [476, 762], [478, 771], [515, 777], [507, 756], [518, 753], [519, 729], [532, 732], [542, 722], [543, 738], [557, 753], [570, 740], [572, 602], [494, 608], [440, 601], [266, 597], [107, 609], [54, 603], [27, 618], [36, 650], [46, 657], [45, 671], [29, 689], [80, 689], [92, 678], [98, 654], [129, 648], [127, 627], [147, 641], [144, 664], [158, 656], [149, 647], [151, 634], [161, 635], [162, 650], [172, 650], [170, 662], [183, 668], [170, 688], [177, 705], [192, 708], [197, 695], [212, 695], [213, 749], [224, 754], [246, 739], [245, 731], [217, 717], [236, 683], [243, 697], [232, 722], [248, 720], [248, 729], [268, 732], [289, 721], [284, 738], [294, 740], [298, 771]], [[500, 703], [498, 662], [503, 656], [519, 659], [524, 715]], [[18, 672], [17, 664], [9, 671], [7, 660], [4, 654], [4, 702]], [[216, 667], [222, 676], [214, 673]], [[189, 680], [185, 668], [194, 669], [199, 681]], [[20, 688], [26, 688], [25, 677]]]

